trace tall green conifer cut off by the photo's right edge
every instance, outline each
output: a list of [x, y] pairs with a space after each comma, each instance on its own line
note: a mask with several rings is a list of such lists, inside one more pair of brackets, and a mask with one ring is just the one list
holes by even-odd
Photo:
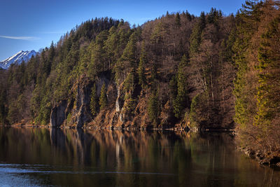
[[[267, 31], [262, 34], [262, 42], [258, 48], [258, 86], [257, 86], [257, 107], [254, 123], [267, 130], [274, 125], [273, 120], [279, 112], [279, 37], [280, 37], [280, 16], [270, 22]], [[278, 41], [278, 42], [277, 42]]]

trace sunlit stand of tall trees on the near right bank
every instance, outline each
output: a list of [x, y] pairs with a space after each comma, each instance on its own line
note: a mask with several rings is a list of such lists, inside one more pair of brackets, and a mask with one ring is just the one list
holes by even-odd
[[233, 47], [237, 132], [245, 146], [271, 158], [280, 155], [279, 6], [279, 1], [246, 2], [236, 18]]

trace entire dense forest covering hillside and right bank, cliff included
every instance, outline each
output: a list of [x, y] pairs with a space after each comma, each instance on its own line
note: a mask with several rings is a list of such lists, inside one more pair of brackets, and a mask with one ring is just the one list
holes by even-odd
[[234, 129], [280, 155], [280, 3], [87, 20], [0, 70], [0, 123]]

